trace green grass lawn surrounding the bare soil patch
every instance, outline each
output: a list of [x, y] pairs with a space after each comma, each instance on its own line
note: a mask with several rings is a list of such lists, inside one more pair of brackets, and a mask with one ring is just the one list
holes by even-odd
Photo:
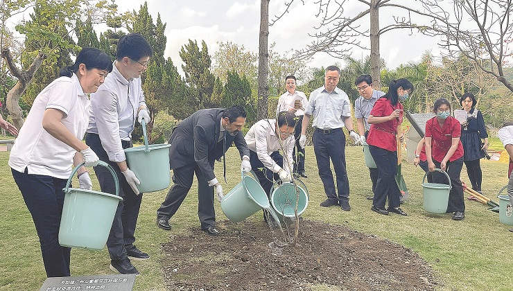
[[[324, 209], [319, 206], [326, 196], [318, 177], [313, 148], [306, 149], [308, 179], [303, 181], [308, 186], [311, 200], [308, 209], [303, 213], [305, 219], [343, 224], [414, 250], [435, 270], [437, 278], [443, 284], [439, 286], [440, 290], [512, 289], [513, 233], [507, 231], [507, 225], [498, 221], [498, 213], [487, 211], [487, 206], [469, 200], [465, 200], [467, 211], [462, 222], [451, 220], [450, 214], [426, 213], [422, 208], [420, 186], [424, 172], [404, 162], [403, 175], [410, 191], [410, 199], [401, 208], [409, 216], [379, 215], [370, 211], [372, 202], [365, 199], [367, 195], [371, 195], [371, 185], [362, 148], [349, 147], [346, 155], [351, 188], [349, 212], [336, 207]], [[31, 215], [12, 179], [7, 161], [8, 152], [0, 152], [0, 249], [3, 251], [0, 290], [39, 290], [46, 279], [39, 242]], [[486, 160], [481, 160], [481, 163], [483, 193], [492, 200], [497, 200], [498, 191], [507, 184], [507, 164]], [[225, 193], [240, 181], [240, 159], [234, 148], [227, 153], [227, 167], [229, 178], [228, 185], [223, 186]], [[216, 173], [218, 177], [222, 177], [222, 164], [216, 164]], [[462, 179], [469, 182], [465, 170]], [[94, 183], [95, 189], [99, 189], [98, 183]], [[171, 220], [171, 231], [162, 231], [155, 225], [156, 210], [164, 200], [167, 190], [144, 195], [137, 225], [136, 245], [148, 252], [152, 258], [148, 261], [134, 261], [134, 265], [141, 272], [135, 281], [134, 290], [166, 290], [160, 266], [160, 259], [164, 256], [160, 244], [167, 242], [171, 235], [180, 235], [186, 233], [190, 227], [200, 226], [196, 187], [197, 184], [194, 183], [191, 193]], [[226, 219], [218, 202], [216, 213], [218, 220]], [[249, 219], [261, 220], [260, 216], [258, 213]], [[73, 276], [112, 274], [109, 264], [107, 249], [73, 249], [71, 252]], [[331, 290], [326, 286], [318, 289]]]

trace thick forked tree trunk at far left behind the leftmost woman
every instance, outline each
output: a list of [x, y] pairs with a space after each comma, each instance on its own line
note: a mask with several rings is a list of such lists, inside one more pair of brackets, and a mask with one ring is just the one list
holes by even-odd
[[30, 84], [34, 77], [35, 72], [41, 67], [46, 55], [40, 53], [32, 62], [31, 67], [28, 67], [27, 71], [21, 71], [16, 67], [9, 48], [2, 48], [1, 54], [3, 59], [6, 60], [7, 67], [9, 68], [10, 73], [12, 73], [12, 76], [15, 76], [15, 78], [18, 79], [18, 82], [16, 82], [14, 87], [12, 87], [8, 92], [6, 103], [7, 110], [12, 117], [12, 125], [15, 125], [15, 127], [20, 130], [23, 125], [23, 114], [21, 112], [21, 107], [19, 107], [18, 104], [19, 98], [21, 97], [21, 94], [24, 94], [28, 84]]

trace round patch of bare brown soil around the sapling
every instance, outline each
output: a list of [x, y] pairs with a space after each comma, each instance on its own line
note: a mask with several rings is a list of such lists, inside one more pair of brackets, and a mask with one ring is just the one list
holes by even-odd
[[217, 227], [217, 237], [191, 229], [162, 245], [168, 290], [311, 290], [320, 284], [433, 290], [437, 285], [431, 267], [411, 249], [347, 227], [300, 220], [297, 244], [284, 248], [276, 247], [263, 222], [223, 221]]

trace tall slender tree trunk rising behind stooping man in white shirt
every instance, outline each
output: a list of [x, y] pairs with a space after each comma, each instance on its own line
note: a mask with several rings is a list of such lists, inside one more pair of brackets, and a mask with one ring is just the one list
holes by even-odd
[[260, 4], [260, 39], [259, 39], [259, 91], [257, 119], [267, 118], [268, 85], [268, 36], [269, 36], [269, 1]]

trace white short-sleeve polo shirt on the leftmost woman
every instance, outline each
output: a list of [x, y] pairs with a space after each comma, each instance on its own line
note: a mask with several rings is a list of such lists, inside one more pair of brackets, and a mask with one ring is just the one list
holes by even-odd
[[63, 112], [62, 124], [82, 140], [89, 122], [90, 107], [89, 98], [74, 73], [71, 78], [53, 80], [35, 98], [10, 152], [9, 166], [20, 173], [27, 168], [28, 174], [67, 179], [71, 175], [76, 150], [44, 130], [44, 111], [53, 108]]

